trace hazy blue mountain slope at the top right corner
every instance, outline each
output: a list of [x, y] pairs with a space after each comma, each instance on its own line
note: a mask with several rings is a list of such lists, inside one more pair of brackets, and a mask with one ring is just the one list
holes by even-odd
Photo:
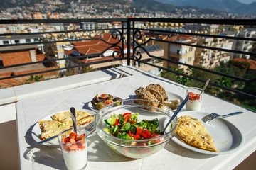
[[242, 4], [236, 0], [156, 0], [164, 4], [174, 6], [195, 6], [197, 8], [208, 8], [226, 13], [239, 13], [256, 15], [256, 3]]

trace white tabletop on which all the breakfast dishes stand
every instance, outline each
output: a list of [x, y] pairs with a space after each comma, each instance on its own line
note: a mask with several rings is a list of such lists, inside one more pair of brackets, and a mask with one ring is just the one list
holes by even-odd
[[[58, 147], [35, 145], [31, 129], [37, 120], [57, 111], [89, 109], [87, 103], [95, 94], [112, 94], [129, 98], [134, 90], [148, 84], [161, 84], [166, 91], [185, 97], [185, 86], [152, 74], [137, 74], [129, 77], [82, 86], [77, 89], [59, 91], [46, 96], [24, 99], [16, 103], [18, 148], [21, 169], [66, 169]], [[231, 154], [208, 155], [193, 152], [170, 141], [160, 152], [144, 159], [129, 159], [119, 156], [97, 136], [88, 139], [88, 164], [86, 169], [233, 169], [256, 149], [256, 114], [233, 103], [206, 94], [203, 111], [207, 113], [230, 113], [243, 111], [244, 114], [227, 118], [236, 125], [245, 137], [242, 147]]]

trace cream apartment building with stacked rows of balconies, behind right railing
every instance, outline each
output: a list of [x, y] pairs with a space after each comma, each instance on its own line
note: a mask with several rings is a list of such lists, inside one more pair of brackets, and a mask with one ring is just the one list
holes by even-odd
[[[225, 38], [200, 37], [198, 38], [198, 45], [231, 50], [233, 42], [230, 42]], [[213, 69], [216, 66], [219, 66], [221, 62], [228, 62], [230, 58], [231, 55], [229, 52], [197, 48], [194, 64], [205, 67], [206, 69]]]

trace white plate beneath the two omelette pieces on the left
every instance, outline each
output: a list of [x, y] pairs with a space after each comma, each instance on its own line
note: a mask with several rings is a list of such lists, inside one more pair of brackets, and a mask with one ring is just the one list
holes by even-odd
[[[69, 111], [69, 110], [65, 110], [65, 111], [59, 111], [59, 112], [56, 112], [56, 113], [63, 113], [63, 112], [66, 112], [66, 111]], [[91, 115], [95, 115], [95, 112], [92, 112], [90, 110], [80, 110], [80, 111], [85, 111], [87, 113], [90, 113]], [[52, 118], [50, 118], [50, 116], [56, 114], [56, 113], [53, 113], [51, 115], [48, 115], [46, 116], [45, 118], [41, 119], [41, 120], [53, 120]], [[41, 135], [41, 129], [39, 127], [39, 124], [36, 123], [33, 128], [32, 128], [32, 131], [31, 131], [31, 135], [33, 137], [33, 140], [35, 140], [36, 142], [40, 142], [41, 139], [40, 139], [40, 135]], [[50, 140], [48, 142], [43, 142], [41, 143], [41, 145], [46, 145], [46, 146], [50, 146], [50, 147], [58, 147], [59, 146], [59, 143], [58, 143], [58, 139], [57, 137], [53, 140]]]

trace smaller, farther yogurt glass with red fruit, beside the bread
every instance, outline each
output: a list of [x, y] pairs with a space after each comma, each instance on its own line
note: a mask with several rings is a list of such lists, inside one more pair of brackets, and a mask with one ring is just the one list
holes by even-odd
[[188, 87], [186, 89], [186, 96], [189, 94], [188, 101], [186, 102], [186, 110], [187, 111], [200, 111], [201, 105], [203, 102], [203, 94], [199, 96], [202, 89], [197, 87]]

